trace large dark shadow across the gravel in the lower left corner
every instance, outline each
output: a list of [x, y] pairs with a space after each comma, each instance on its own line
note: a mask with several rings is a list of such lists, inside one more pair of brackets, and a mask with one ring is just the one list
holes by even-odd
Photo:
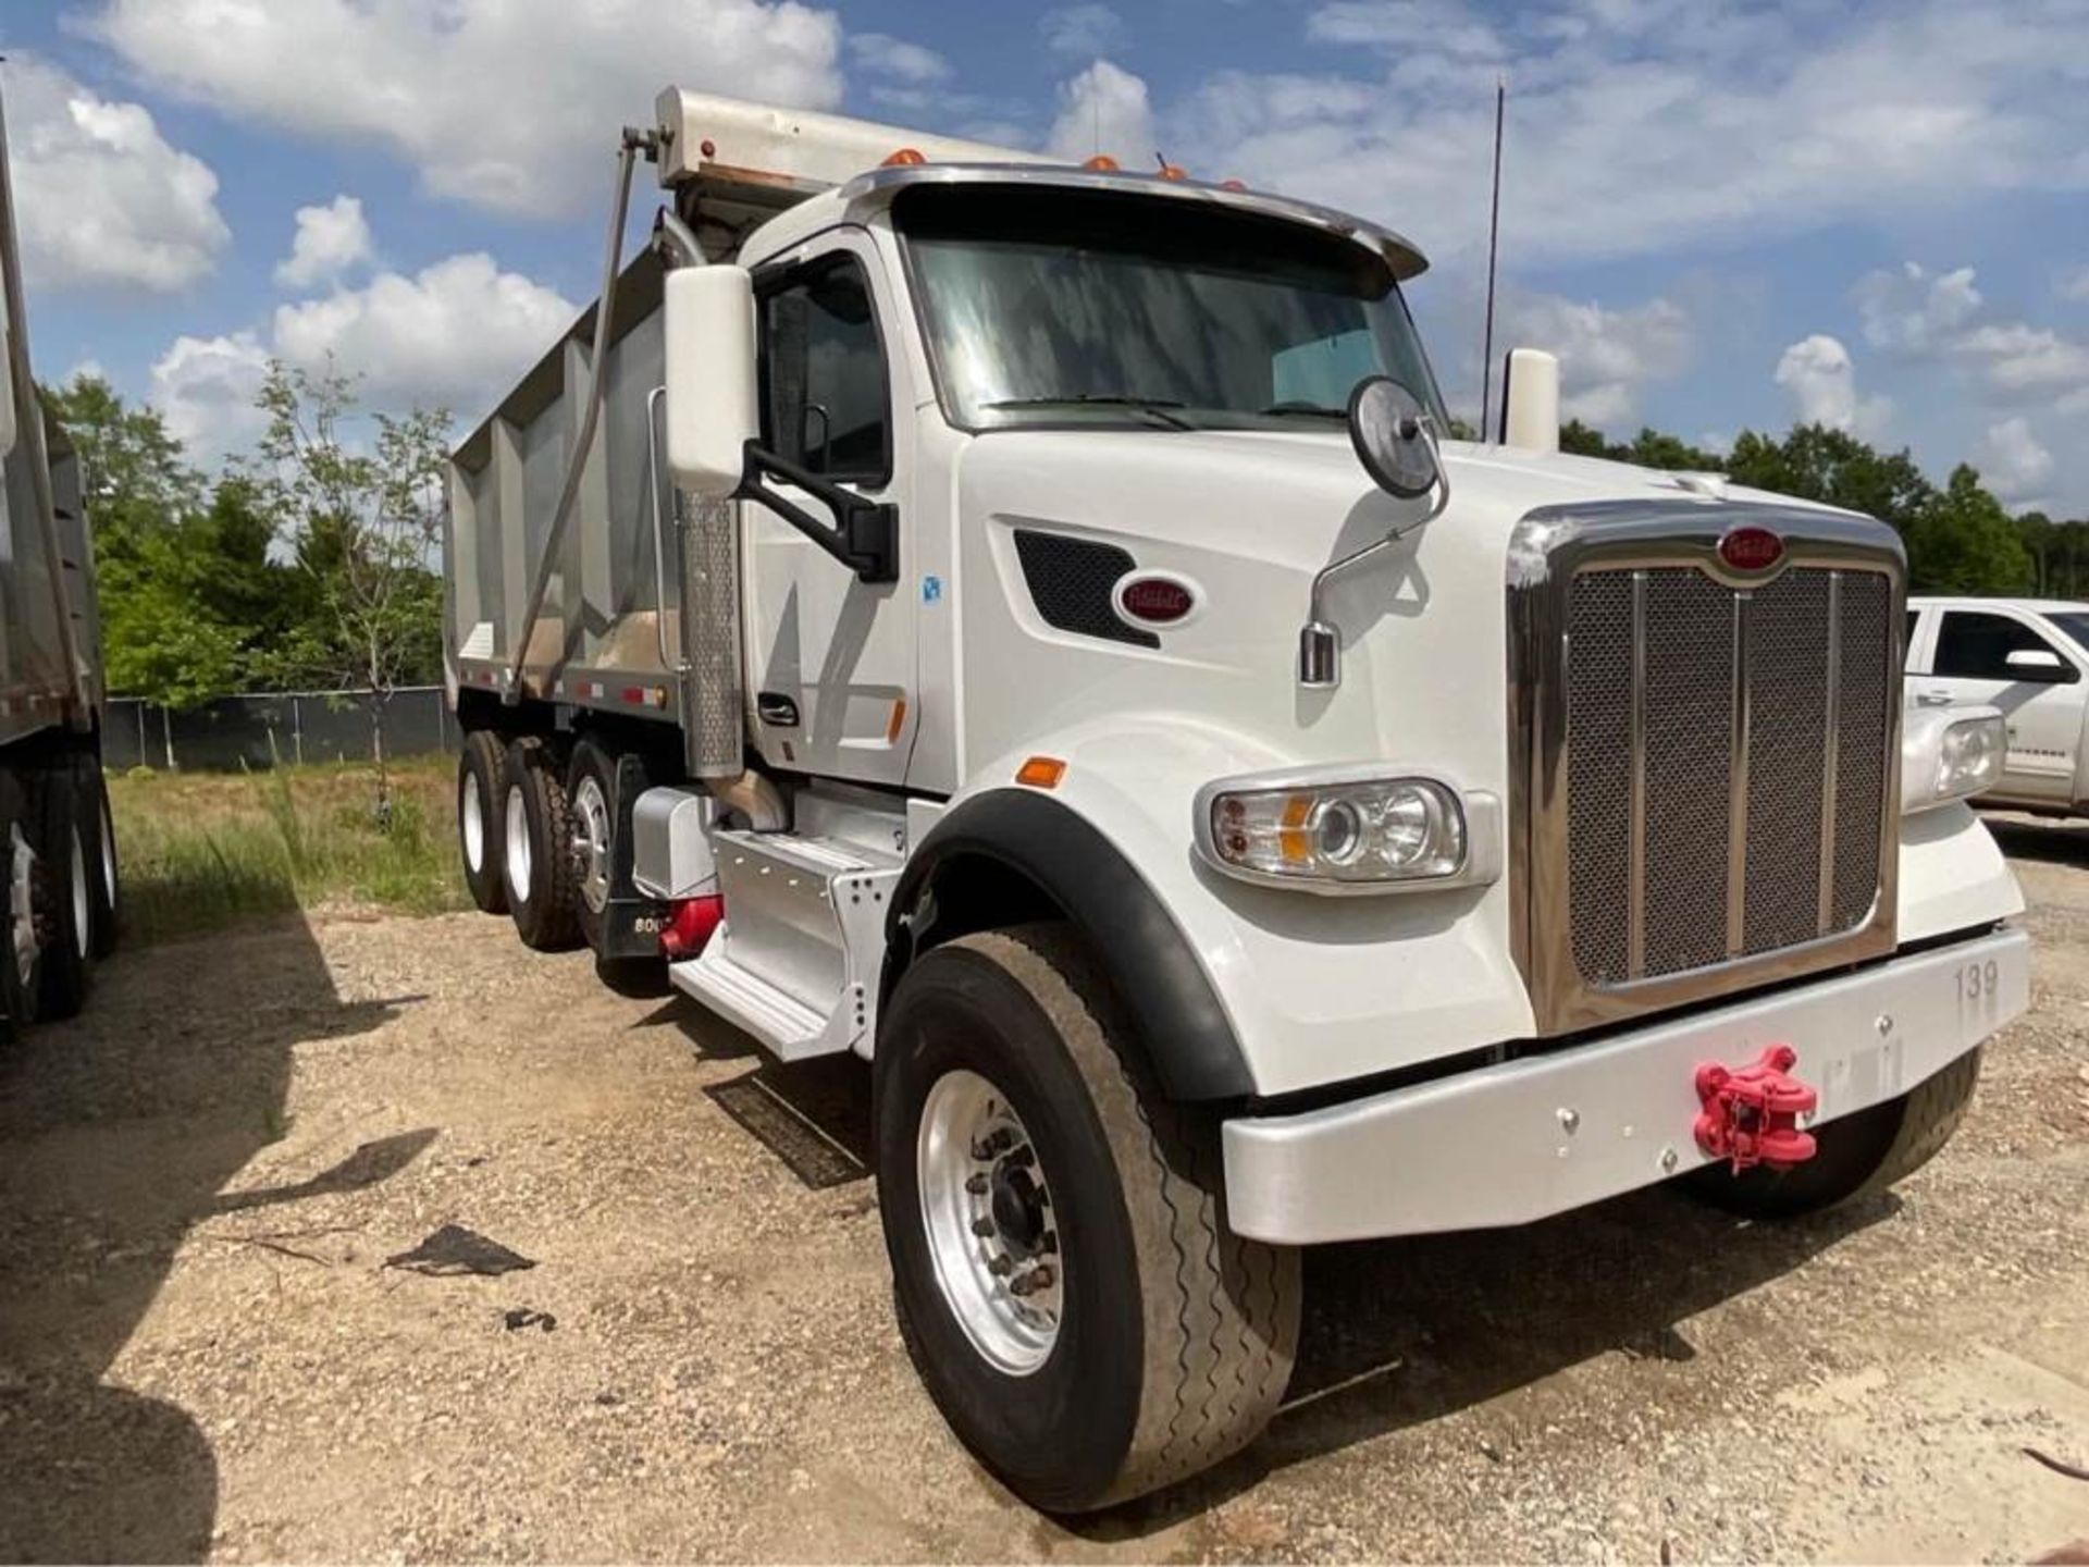
[[[119, 951], [81, 1018], [0, 1049], [0, 1559], [201, 1561], [217, 1460], [178, 1404], [111, 1371], [194, 1222], [386, 1178], [430, 1132], [276, 1191], [221, 1195], [286, 1132], [295, 1047], [343, 1003], [303, 919]], [[150, 1379], [180, 1385], [180, 1343]]]

